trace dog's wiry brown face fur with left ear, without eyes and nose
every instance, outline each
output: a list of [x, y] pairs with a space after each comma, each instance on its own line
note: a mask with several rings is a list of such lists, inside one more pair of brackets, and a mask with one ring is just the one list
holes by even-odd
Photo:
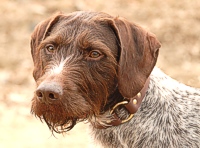
[[[36, 93], [33, 97], [31, 111], [52, 131], [70, 130], [77, 122], [99, 115], [115, 90], [117, 40], [108, 24], [97, 18], [98, 13], [89, 12], [57, 14], [38, 24], [32, 34], [38, 89], [53, 84], [62, 92], [56, 101], [40, 101]], [[48, 45], [54, 46], [54, 53], [46, 50]], [[104, 55], [101, 60], [89, 57], [93, 48]]]

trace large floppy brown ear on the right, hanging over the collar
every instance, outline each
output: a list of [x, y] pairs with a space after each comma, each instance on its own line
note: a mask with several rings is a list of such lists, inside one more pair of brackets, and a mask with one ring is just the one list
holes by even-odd
[[122, 96], [131, 98], [144, 87], [156, 64], [161, 45], [153, 34], [123, 18], [115, 18], [109, 24], [116, 33], [121, 49], [119, 91]]

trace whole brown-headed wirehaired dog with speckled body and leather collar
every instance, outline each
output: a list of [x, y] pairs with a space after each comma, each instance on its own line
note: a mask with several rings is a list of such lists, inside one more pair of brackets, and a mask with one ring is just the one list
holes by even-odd
[[155, 66], [160, 47], [125, 18], [53, 15], [31, 36], [31, 112], [57, 133], [88, 121], [102, 147], [200, 147], [200, 89]]

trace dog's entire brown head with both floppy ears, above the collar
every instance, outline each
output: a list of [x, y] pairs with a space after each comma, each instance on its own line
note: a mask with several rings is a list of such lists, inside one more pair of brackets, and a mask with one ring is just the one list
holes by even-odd
[[48, 18], [31, 37], [32, 112], [56, 132], [98, 116], [116, 91], [130, 98], [142, 89], [159, 48], [153, 34], [105, 13]]

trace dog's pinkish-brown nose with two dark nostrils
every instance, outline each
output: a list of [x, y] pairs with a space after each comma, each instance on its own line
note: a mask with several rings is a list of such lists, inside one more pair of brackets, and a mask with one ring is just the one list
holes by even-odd
[[37, 90], [36, 96], [42, 102], [52, 102], [61, 98], [62, 87], [56, 82], [43, 82]]

